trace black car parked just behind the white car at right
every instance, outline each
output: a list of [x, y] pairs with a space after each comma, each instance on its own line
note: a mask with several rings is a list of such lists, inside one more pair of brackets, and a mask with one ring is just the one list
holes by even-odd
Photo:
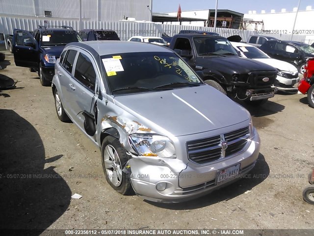
[[301, 74], [305, 72], [307, 59], [314, 58], [314, 48], [301, 42], [271, 40], [262, 44], [260, 49], [271, 58], [295, 65]]

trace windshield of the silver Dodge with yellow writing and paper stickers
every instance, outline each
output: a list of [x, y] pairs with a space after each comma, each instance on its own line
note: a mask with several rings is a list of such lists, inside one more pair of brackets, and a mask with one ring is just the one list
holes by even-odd
[[141, 52], [101, 57], [114, 95], [202, 85], [197, 75], [174, 53]]

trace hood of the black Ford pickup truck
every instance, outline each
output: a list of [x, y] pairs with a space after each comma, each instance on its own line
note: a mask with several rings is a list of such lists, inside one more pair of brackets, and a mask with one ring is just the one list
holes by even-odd
[[[204, 60], [204, 61], [203, 61]], [[210, 63], [210, 68], [216, 68], [221, 72], [248, 73], [250, 71], [271, 71], [274, 67], [261, 63], [257, 60], [240, 58], [240, 57], [204, 57], [200, 62]]]

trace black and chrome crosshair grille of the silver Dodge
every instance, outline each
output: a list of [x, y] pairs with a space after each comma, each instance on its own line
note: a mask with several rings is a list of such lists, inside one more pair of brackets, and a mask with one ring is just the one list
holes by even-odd
[[[188, 158], [195, 163], [205, 164], [233, 155], [246, 146], [250, 137], [249, 127], [226, 134], [186, 143]], [[227, 142], [228, 148], [222, 149], [221, 142]]]

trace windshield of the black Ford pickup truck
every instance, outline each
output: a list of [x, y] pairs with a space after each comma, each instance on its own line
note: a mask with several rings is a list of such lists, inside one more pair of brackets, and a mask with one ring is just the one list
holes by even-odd
[[214, 54], [234, 54], [235, 49], [228, 39], [216, 37], [193, 37], [198, 55], [213, 56]]

